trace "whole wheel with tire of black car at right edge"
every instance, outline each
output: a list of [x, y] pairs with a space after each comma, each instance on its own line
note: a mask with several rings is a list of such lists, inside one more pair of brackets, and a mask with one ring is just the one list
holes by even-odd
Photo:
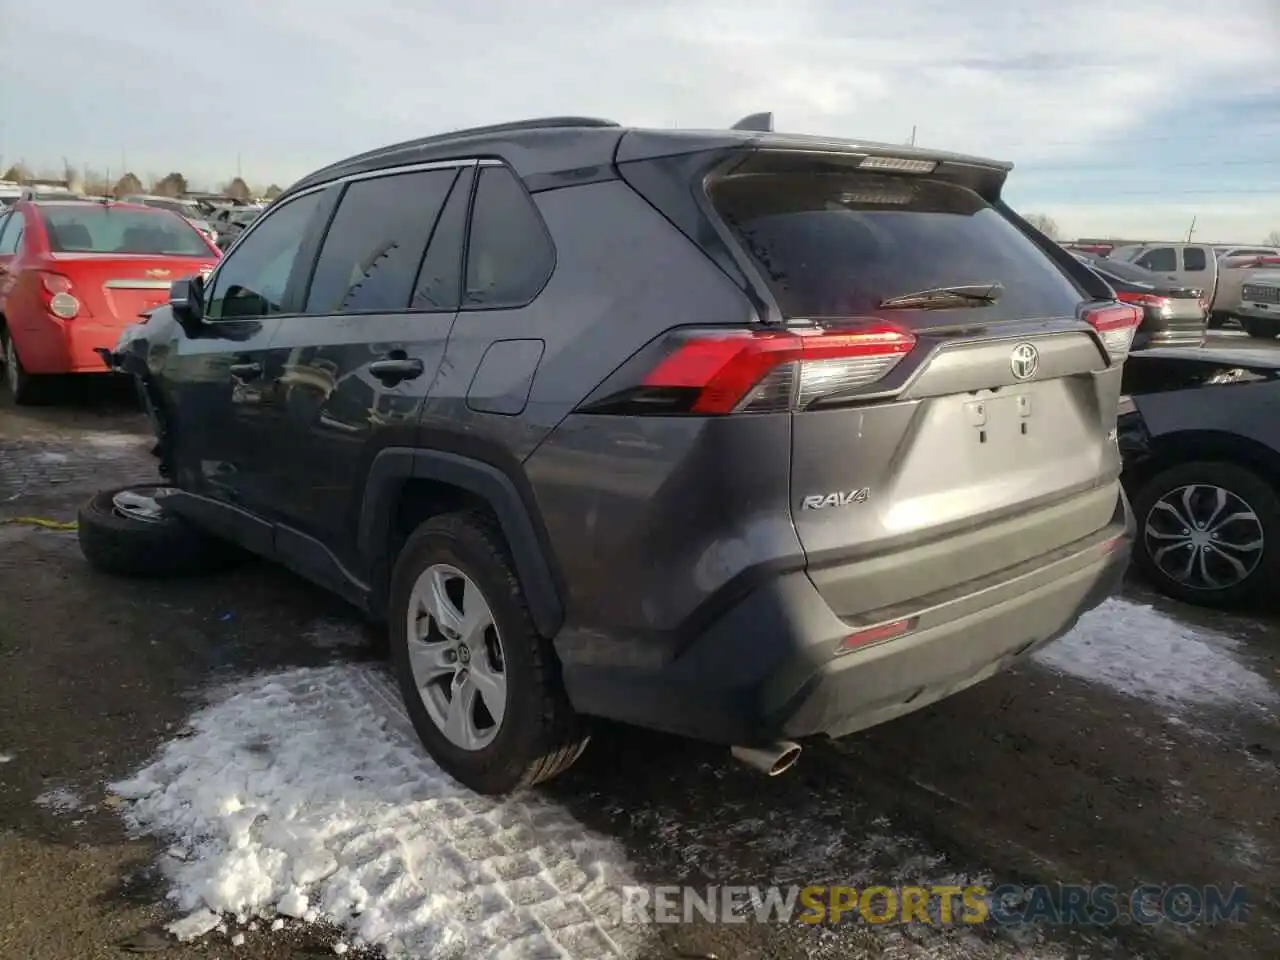
[[1134, 498], [1134, 562], [1161, 593], [1233, 607], [1274, 590], [1280, 573], [1280, 495], [1247, 467], [1181, 463]]

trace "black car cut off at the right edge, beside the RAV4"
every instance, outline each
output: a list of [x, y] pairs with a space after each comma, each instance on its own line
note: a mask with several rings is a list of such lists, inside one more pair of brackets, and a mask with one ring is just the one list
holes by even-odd
[[1135, 564], [1170, 596], [1231, 605], [1280, 582], [1280, 355], [1152, 349], [1125, 365]]

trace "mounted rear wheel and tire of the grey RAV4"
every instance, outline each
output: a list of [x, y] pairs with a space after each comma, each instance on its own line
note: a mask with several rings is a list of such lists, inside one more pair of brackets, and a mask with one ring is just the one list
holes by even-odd
[[413, 730], [460, 783], [509, 794], [582, 754], [586, 731], [493, 520], [460, 512], [422, 524], [396, 561], [389, 621]]

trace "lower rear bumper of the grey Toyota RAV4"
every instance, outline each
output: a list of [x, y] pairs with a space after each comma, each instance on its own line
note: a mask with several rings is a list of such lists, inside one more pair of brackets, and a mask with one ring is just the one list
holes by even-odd
[[721, 744], [844, 736], [910, 713], [1025, 658], [1120, 585], [1133, 516], [1085, 540], [881, 618], [916, 618], [900, 639], [836, 657], [858, 627], [805, 573], [758, 588], [660, 666], [600, 664], [562, 652], [582, 713]]

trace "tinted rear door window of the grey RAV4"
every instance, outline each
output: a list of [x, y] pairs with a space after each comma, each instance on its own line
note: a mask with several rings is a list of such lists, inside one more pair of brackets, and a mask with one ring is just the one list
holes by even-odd
[[307, 293], [308, 314], [404, 310], [457, 170], [422, 170], [347, 187]]

